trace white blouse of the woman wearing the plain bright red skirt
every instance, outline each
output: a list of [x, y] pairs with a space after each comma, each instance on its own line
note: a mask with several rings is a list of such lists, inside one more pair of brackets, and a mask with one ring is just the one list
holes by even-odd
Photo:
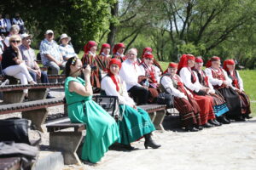
[[195, 83], [191, 82], [192, 71], [188, 67], [183, 67], [179, 71], [179, 76], [183, 80], [183, 83], [186, 86], [186, 88], [189, 88], [191, 91], [199, 92], [201, 84], [198, 81], [196, 81]]

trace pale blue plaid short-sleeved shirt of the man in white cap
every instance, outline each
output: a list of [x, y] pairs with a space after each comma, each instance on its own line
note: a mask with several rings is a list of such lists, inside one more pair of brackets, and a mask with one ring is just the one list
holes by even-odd
[[50, 54], [53, 56], [57, 61], [61, 61], [61, 52], [59, 50], [58, 44], [52, 40], [49, 42], [47, 39], [44, 39], [40, 44], [40, 54], [41, 59], [43, 62], [43, 65], [47, 65], [49, 63], [48, 57], [45, 56], [45, 54]]

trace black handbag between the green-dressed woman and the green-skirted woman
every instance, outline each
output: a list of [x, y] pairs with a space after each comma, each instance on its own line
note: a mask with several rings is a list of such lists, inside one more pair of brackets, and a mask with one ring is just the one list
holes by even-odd
[[121, 119], [119, 114], [119, 99], [117, 96], [97, 95], [95, 102], [109, 113], [116, 121]]

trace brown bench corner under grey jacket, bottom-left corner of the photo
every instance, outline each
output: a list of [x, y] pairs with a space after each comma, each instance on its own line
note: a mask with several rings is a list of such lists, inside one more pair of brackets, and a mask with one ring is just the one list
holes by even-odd
[[19, 170], [20, 157], [0, 158], [0, 170]]

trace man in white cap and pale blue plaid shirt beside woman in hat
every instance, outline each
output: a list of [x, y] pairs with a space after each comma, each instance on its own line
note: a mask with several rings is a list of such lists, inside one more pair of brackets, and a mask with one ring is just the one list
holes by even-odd
[[[40, 44], [40, 54], [44, 66], [49, 66], [51, 74], [59, 74], [65, 63], [61, 56], [58, 44], [54, 41], [54, 32], [48, 30], [44, 34], [45, 38]], [[54, 82], [57, 82], [55, 80]]]

